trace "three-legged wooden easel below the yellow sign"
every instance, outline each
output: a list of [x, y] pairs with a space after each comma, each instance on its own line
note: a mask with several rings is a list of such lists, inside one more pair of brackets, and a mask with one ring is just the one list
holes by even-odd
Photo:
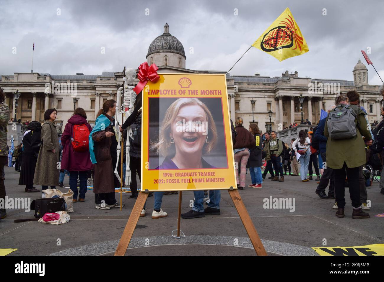
[[[248, 211], [245, 208], [245, 205], [243, 203], [243, 200], [238, 190], [233, 189], [233, 187], [231, 187], [228, 190], [228, 193], [231, 196], [233, 203], [235, 204], [236, 210], [240, 216], [240, 219], [243, 222], [245, 230], [247, 231], [248, 237], [252, 242], [252, 245], [256, 251], [256, 254], [258, 256], [266, 256], [267, 254], [264, 249], [263, 243], [260, 240], [259, 235], [257, 234], [256, 228], [253, 225], [251, 218], [249, 217]], [[131, 241], [133, 232], [136, 228], [137, 221], [139, 221], [140, 213], [142, 211], [142, 208], [144, 207], [144, 203], [146, 202], [147, 198], [148, 198], [148, 190], [146, 190], [145, 192], [139, 193], [136, 203], [133, 206], [132, 212], [129, 216], [128, 222], [124, 228], [124, 232], [121, 235], [120, 242], [115, 251], [114, 256], [125, 255], [129, 242]], [[180, 191], [180, 194], [179, 194], [179, 216], [177, 220], [177, 237], [180, 237], [181, 198], [182, 198], [182, 191]]]

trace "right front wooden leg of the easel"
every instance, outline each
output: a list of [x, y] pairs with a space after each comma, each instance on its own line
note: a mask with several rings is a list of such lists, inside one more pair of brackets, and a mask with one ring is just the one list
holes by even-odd
[[249, 217], [248, 211], [245, 208], [245, 205], [239, 194], [239, 191], [237, 189], [234, 189], [234, 190], [228, 190], [228, 192], [232, 198], [233, 203], [235, 204], [235, 207], [240, 216], [240, 219], [244, 224], [245, 230], [248, 233], [248, 236], [252, 242], [253, 248], [255, 248], [256, 254], [258, 256], [267, 256], [263, 243], [260, 240], [259, 235], [257, 234], [255, 225], [253, 225], [253, 222]]

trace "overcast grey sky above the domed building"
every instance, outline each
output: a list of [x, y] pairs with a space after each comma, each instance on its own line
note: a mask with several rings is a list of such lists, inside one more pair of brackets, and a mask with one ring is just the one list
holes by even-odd
[[[286, 7], [310, 51], [279, 62], [252, 47], [230, 74], [273, 77], [297, 70], [301, 77], [353, 80], [358, 59], [366, 64], [360, 50], [370, 47], [368, 56], [384, 79], [382, 0], [3, 0], [0, 74], [31, 71], [33, 40], [35, 72], [101, 74], [137, 68], [166, 22], [184, 46], [186, 68], [228, 71]], [[367, 68], [369, 83], [381, 84], [372, 66]]]

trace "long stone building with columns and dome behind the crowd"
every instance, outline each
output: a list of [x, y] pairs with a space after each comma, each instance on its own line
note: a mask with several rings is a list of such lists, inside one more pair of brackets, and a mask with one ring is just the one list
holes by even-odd
[[[185, 68], [184, 47], [175, 36], [170, 35], [168, 24], [164, 26], [164, 33], [152, 41], [146, 59], [149, 65], [155, 63], [159, 67], [158, 73], [226, 73]], [[300, 94], [305, 97], [303, 118], [310, 120], [312, 124], [318, 122], [321, 109], [325, 110], [334, 103], [337, 91], [350, 90], [359, 92], [362, 105], [368, 112], [369, 122], [380, 119], [382, 97], [378, 94], [379, 86], [368, 84], [368, 70], [360, 59], [353, 69], [353, 81], [300, 77], [297, 71], [293, 74], [285, 71], [275, 77], [260, 74], [227, 74], [226, 77], [231, 119], [242, 117], [245, 127], [255, 122], [262, 132], [268, 128], [280, 130], [292, 122], [300, 124]], [[45, 110], [54, 107], [58, 110], [56, 122], [65, 126], [74, 107], [82, 107], [89, 123], [93, 125], [103, 102], [116, 99], [117, 89], [122, 84], [122, 71], [103, 71], [101, 75], [13, 73], [0, 78], [0, 87], [6, 93], [12, 117], [15, 117], [13, 93], [18, 90], [21, 96], [16, 116], [22, 122], [44, 122]], [[137, 82], [136, 79], [134, 84]], [[325, 89], [320, 91], [321, 87]], [[271, 119], [269, 110], [272, 111]]]

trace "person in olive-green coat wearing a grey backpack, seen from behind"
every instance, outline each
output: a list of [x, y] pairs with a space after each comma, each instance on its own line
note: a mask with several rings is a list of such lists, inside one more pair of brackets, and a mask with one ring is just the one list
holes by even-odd
[[[334, 189], [338, 210], [336, 216], [344, 217], [344, 187], [348, 178], [351, 196], [352, 218], [369, 218], [360, 203], [359, 167], [366, 163], [365, 146], [372, 144], [365, 113], [356, 105], [350, 105], [348, 96], [340, 93], [337, 106], [331, 110], [325, 122], [326, 165], [334, 170]], [[362, 138], [364, 137], [365, 140]]]

